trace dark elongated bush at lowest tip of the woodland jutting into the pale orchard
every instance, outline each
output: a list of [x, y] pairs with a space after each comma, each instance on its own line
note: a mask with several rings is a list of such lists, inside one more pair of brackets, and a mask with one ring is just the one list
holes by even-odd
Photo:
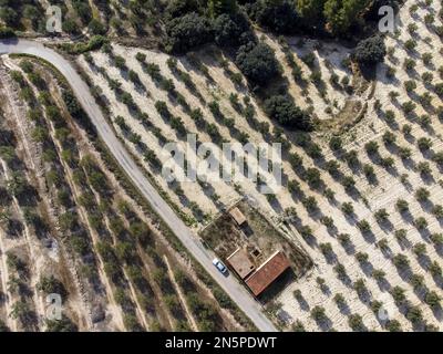
[[287, 96], [272, 96], [265, 101], [265, 112], [287, 128], [312, 131], [312, 119], [308, 113], [297, 107]]

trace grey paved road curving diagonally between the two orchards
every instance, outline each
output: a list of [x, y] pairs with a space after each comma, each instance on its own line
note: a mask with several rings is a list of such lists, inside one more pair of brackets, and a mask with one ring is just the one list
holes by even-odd
[[79, 102], [89, 114], [95, 125], [101, 138], [114, 155], [116, 160], [138, 187], [143, 196], [152, 205], [154, 210], [175, 232], [186, 249], [197, 259], [218, 284], [229, 294], [237, 305], [250, 317], [255, 325], [262, 332], [276, 332], [277, 329], [261, 312], [261, 306], [256, 302], [246, 289], [238, 283], [234, 277], [225, 278], [213, 266], [214, 254], [206, 250], [188, 227], [175, 215], [173, 209], [158, 195], [155, 188], [144, 177], [138, 166], [128, 155], [122, 143], [115, 137], [112, 128], [107, 124], [95, 100], [90, 93], [90, 88], [75, 72], [73, 66], [63, 56], [45, 48], [43, 44], [28, 40], [0, 41], [0, 55], [8, 53], [32, 54], [42, 58], [54, 65], [66, 77]]

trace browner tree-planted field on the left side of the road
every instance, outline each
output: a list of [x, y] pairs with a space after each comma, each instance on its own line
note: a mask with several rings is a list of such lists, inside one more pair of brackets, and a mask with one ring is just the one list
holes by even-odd
[[[2, 323], [14, 331], [241, 329], [92, 148], [71, 117], [75, 98], [52, 70], [31, 59], [4, 64]], [[62, 323], [47, 320], [52, 293], [62, 296]]]

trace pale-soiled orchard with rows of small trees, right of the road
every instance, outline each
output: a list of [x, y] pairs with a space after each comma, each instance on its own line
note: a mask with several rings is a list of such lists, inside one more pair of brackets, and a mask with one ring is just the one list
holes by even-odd
[[[399, 29], [401, 35], [387, 40], [389, 59], [375, 80], [349, 66], [349, 50], [340, 45], [261, 38], [276, 51], [296, 103], [320, 119], [322, 128], [310, 135], [280, 131], [229, 58], [215, 48], [172, 58], [113, 44], [79, 59], [116, 133], [189, 225], [198, 229], [248, 196], [298, 232], [317, 269], [279, 295], [279, 310], [272, 304], [288, 327], [440, 325], [440, 308], [432, 299], [442, 287], [442, 125], [441, 97], [433, 87], [441, 80], [436, 69], [442, 62], [440, 39], [423, 22], [440, 8], [419, 8], [411, 18], [411, 6], [406, 3], [400, 17], [404, 29], [412, 21], [420, 23], [412, 34], [416, 49], [408, 52], [411, 34]], [[424, 63], [427, 52], [435, 54]], [[416, 63], [412, 72], [403, 65], [411, 55]], [[313, 58], [312, 69], [307, 56]], [[292, 61], [306, 77], [302, 84], [291, 75]], [[322, 97], [312, 82], [317, 72], [324, 81]], [[408, 81], [418, 86], [413, 94], [406, 92]], [[412, 112], [405, 102], [413, 102]], [[185, 148], [192, 133], [216, 144], [284, 142], [286, 188], [267, 197], [248, 180], [167, 184], [159, 168], [166, 158], [162, 147], [178, 140]], [[379, 308], [387, 308], [391, 321], [380, 319]]]

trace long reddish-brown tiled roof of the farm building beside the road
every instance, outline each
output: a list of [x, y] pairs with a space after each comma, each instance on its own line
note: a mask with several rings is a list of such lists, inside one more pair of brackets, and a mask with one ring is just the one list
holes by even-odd
[[290, 267], [284, 252], [277, 251], [245, 280], [254, 295], [261, 294], [278, 277]]

